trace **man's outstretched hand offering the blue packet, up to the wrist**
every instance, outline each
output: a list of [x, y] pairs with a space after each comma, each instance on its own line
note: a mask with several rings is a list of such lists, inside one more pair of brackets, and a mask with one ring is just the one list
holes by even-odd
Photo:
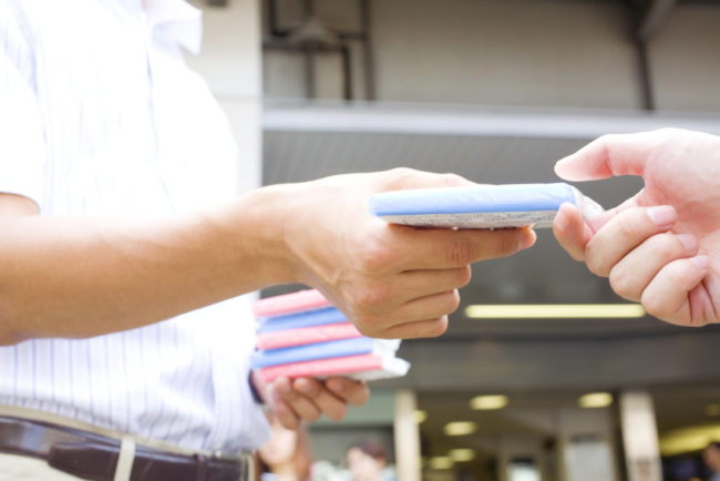
[[[452, 231], [390, 225], [368, 212], [379, 192], [473, 185], [456, 175], [398, 168], [280, 186], [284, 238], [298, 282], [321, 290], [371, 337], [440, 336], [470, 282], [470, 265], [535, 242], [531, 229]], [[288, 201], [290, 202], [290, 201]]]

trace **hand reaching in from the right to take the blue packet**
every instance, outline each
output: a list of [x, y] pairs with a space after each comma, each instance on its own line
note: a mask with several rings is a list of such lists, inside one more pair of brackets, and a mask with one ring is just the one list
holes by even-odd
[[685, 326], [720, 320], [720, 137], [675, 129], [606, 135], [555, 171], [568, 181], [641, 176], [637, 195], [592, 221], [564, 205], [555, 236], [650, 315]]

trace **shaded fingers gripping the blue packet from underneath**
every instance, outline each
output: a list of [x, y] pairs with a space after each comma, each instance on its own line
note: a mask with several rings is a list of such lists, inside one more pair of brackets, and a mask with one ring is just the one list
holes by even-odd
[[[440, 336], [446, 329], [446, 316], [460, 305], [457, 289], [470, 282], [470, 264], [529, 247], [536, 239], [531, 229], [401, 231], [399, 235], [408, 237], [392, 249], [366, 258], [366, 275], [344, 293], [344, 310], [367, 336]], [[415, 244], [422, 238], [432, 248]], [[393, 273], [399, 268], [393, 263], [398, 247], [407, 262], [401, 263], [402, 270]]]

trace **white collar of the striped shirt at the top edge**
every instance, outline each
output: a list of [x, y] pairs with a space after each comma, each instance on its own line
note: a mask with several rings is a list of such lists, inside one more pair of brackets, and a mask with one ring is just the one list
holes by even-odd
[[203, 12], [185, 0], [143, 0], [151, 27], [162, 27], [172, 40], [197, 54], [203, 42]]

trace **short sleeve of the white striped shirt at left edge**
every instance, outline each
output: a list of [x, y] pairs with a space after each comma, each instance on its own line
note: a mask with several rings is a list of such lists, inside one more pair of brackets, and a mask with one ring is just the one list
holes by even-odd
[[0, 2], [0, 193], [42, 206], [45, 142], [34, 60], [11, 10]]

